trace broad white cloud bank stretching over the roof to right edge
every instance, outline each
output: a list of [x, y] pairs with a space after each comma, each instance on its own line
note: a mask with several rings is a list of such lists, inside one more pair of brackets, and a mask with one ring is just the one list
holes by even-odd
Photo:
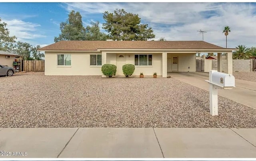
[[153, 28], [155, 40], [202, 40], [197, 30], [213, 30], [204, 34], [204, 41], [225, 47], [222, 30], [230, 26], [228, 48], [256, 46], [255, 3], [66, 3], [67, 11], [79, 11], [85, 19], [116, 8], [138, 14]]

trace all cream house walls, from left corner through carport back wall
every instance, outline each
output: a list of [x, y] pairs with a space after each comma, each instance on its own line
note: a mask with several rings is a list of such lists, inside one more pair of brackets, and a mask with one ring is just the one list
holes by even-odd
[[[71, 54], [71, 66], [57, 66], [57, 54]], [[102, 75], [101, 66], [90, 66], [90, 54], [101, 54], [101, 52], [45, 52], [45, 75]], [[134, 55], [142, 53], [107, 53], [106, 63], [117, 66], [116, 76], [124, 76], [122, 73], [123, 64], [134, 64]], [[162, 53], [152, 54], [152, 66], [135, 66], [133, 76], [152, 76], [154, 72], [162, 76]], [[120, 59], [119, 56], [124, 56]], [[172, 56], [178, 56], [179, 72], [196, 71], [196, 54], [167, 54], [167, 71], [172, 72]], [[120, 63], [119, 60], [123, 62]], [[190, 67], [190, 69], [188, 69]]]

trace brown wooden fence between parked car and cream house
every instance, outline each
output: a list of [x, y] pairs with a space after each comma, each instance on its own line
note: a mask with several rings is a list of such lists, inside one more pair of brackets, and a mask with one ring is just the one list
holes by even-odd
[[44, 60], [23, 60], [23, 71], [44, 72]]

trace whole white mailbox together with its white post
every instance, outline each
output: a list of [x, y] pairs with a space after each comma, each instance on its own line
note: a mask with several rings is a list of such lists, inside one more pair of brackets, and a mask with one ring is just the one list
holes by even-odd
[[232, 89], [235, 87], [235, 78], [231, 74], [210, 70], [209, 80], [210, 91], [210, 115], [218, 115], [218, 89]]

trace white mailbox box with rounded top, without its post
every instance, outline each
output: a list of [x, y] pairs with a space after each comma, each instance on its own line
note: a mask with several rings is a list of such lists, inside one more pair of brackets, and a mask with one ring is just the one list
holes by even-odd
[[235, 77], [231, 74], [212, 72], [212, 83], [220, 87], [234, 87]]

